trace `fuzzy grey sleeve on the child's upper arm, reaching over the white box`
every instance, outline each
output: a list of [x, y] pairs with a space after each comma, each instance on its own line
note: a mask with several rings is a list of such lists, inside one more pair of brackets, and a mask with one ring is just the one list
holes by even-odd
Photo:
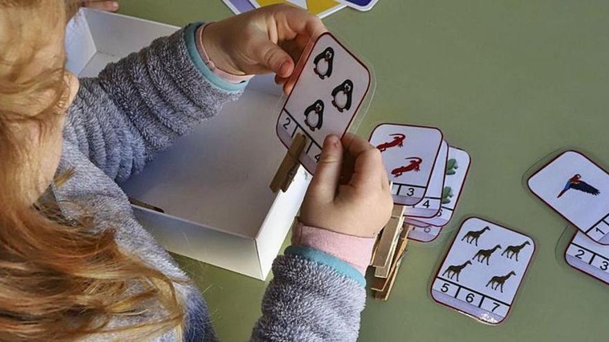
[[197, 51], [199, 25], [156, 39], [109, 64], [98, 77], [80, 79], [64, 138], [113, 180], [141, 171], [246, 86], [212, 77]]

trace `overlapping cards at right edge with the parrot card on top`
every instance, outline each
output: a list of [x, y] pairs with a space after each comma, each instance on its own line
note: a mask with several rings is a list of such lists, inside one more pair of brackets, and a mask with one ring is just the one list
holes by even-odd
[[567, 263], [609, 284], [609, 173], [582, 153], [565, 151], [528, 184], [578, 229], [565, 251]]

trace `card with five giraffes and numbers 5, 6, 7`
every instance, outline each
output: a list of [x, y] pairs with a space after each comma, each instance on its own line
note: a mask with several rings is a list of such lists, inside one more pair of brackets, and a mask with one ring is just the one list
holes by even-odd
[[489, 324], [513, 304], [535, 250], [534, 241], [481, 218], [463, 222], [431, 286], [437, 303]]

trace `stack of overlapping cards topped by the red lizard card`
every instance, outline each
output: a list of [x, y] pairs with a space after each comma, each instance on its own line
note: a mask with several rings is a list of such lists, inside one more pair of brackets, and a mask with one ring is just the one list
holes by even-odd
[[377, 126], [370, 143], [383, 155], [394, 203], [406, 206], [408, 238], [435, 240], [457, 206], [469, 171], [467, 152], [448, 146], [439, 129], [403, 124]]

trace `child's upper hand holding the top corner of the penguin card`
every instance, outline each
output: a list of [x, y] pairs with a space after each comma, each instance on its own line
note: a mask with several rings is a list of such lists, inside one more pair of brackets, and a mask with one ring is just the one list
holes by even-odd
[[215, 66], [235, 75], [273, 72], [286, 84], [309, 40], [325, 32], [318, 17], [289, 5], [266, 6], [210, 23], [203, 46]]

